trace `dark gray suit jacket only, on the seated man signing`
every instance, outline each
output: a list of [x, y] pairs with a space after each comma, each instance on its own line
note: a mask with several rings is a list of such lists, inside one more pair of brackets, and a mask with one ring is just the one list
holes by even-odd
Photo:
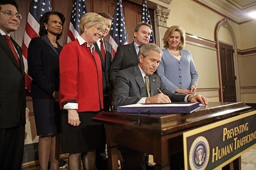
[[[183, 102], [186, 95], [173, 93], [162, 83], [157, 74], [150, 78], [150, 95], [159, 94], [159, 88], [165, 95], [169, 96], [171, 102]], [[130, 67], [117, 73], [113, 89], [114, 108], [123, 105], [136, 104], [141, 98], [147, 97], [147, 91], [139, 66]]]

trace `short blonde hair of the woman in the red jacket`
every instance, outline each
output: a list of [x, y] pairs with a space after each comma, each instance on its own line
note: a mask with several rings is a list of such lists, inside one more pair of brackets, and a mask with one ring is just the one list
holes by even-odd
[[94, 12], [87, 12], [81, 18], [79, 23], [80, 33], [83, 34], [85, 32], [85, 27], [89, 28], [92, 25], [98, 26], [100, 29], [105, 28], [105, 20], [102, 16]]

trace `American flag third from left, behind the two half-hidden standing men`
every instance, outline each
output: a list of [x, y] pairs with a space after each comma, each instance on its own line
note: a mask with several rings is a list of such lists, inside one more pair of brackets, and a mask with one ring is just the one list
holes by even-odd
[[116, 0], [109, 37], [109, 43], [113, 47], [113, 56], [115, 55], [118, 46], [128, 44], [127, 39], [122, 0]]

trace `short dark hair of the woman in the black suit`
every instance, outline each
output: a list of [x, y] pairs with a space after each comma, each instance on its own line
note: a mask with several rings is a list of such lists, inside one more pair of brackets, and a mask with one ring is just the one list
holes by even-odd
[[[45, 12], [43, 14], [43, 16], [40, 18], [40, 22], [39, 22], [40, 23], [40, 28], [39, 28], [39, 35], [40, 36], [43, 36], [43, 35], [47, 34], [47, 30], [45, 29], [45, 23], [48, 22], [50, 15], [58, 15], [61, 19], [62, 25], [64, 25], [64, 22], [65, 22], [66, 18], [62, 13], [57, 12], [57, 11]], [[57, 40], [59, 40], [61, 38], [62, 32], [63, 32], [63, 27], [62, 27], [61, 33], [59, 35], [57, 35], [57, 38], [56, 38]]]

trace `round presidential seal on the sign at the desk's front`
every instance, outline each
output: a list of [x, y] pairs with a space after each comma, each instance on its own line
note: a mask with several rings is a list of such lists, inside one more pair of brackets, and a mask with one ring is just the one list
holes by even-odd
[[191, 170], [205, 170], [210, 157], [210, 147], [207, 139], [198, 136], [189, 150], [189, 165]]

